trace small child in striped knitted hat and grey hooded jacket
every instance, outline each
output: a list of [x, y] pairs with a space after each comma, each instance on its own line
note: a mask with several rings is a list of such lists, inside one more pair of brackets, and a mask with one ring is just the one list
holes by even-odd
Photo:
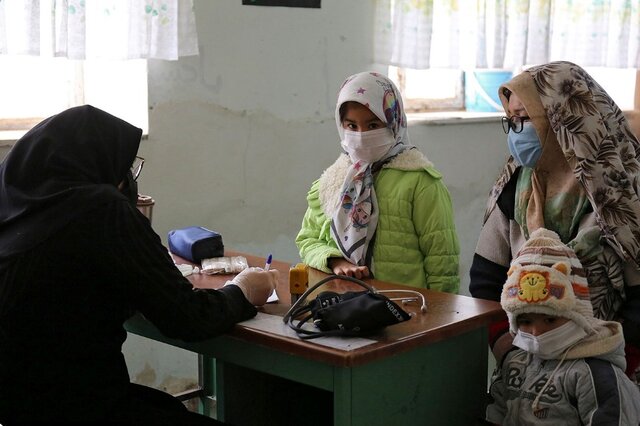
[[555, 232], [531, 234], [511, 262], [501, 304], [514, 348], [494, 372], [489, 422], [640, 424], [620, 323], [594, 318], [580, 261]]

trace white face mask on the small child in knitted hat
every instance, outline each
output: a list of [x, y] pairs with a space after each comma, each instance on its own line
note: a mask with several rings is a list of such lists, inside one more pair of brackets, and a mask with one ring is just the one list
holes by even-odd
[[513, 344], [542, 359], [558, 359], [569, 346], [586, 335], [587, 332], [582, 327], [574, 321], [569, 321], [539, 336], [518, 330]]

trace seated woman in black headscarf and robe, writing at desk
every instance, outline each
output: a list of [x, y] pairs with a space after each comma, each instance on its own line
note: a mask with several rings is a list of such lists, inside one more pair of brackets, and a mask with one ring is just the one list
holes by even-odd
[[129, 382], [123, 323], [139, 311], [166, 336], [210, 338], [253, 317], [278, 272], [193, 288], [136, 209], [141, 134], [71, 108], [0, 164], [0, 424], [218, 424]]

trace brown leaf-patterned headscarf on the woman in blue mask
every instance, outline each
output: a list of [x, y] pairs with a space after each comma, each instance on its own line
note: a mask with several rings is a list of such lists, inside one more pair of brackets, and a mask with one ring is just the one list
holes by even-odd
[[[640, 265], [640, 144], [620, 108], [571, 62], [530, 68], [500, 87], [508, 111], [505, 88], [522, 101], [542, 144], [536, 166], [523, 167], [525, 176], [518, 179], [516, 220], [525, 235], [546, 225], [560, 228], [554, 230], [567, 243], [588, 200], [601, 236], [622, 259]], [[515, 168], [509, 158], [491, 191], [485, 219]], [[554, 211], [560, 213], [549, 226], [545, 222]]]

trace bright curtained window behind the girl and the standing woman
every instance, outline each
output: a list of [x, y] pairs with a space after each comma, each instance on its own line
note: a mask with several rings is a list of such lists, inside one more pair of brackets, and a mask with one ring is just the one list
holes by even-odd
[[[479, 112], [483, 101], [491, 106], [487, 110], [501, 110], [493, 84], [500, 72], [516, 75], [528, 65], [556, 60], [589, 64], [587, 71], [620, 108], [631, 109], [633, 74], [640, 67], [640, 1], [530, 3], [378, 0], [375, 62], [390, 66], [390, 77], [414, 112]], [[572, 31], [558, 30], [563, 28]], [[477, 90], [485, 82], [485, 90]]]

